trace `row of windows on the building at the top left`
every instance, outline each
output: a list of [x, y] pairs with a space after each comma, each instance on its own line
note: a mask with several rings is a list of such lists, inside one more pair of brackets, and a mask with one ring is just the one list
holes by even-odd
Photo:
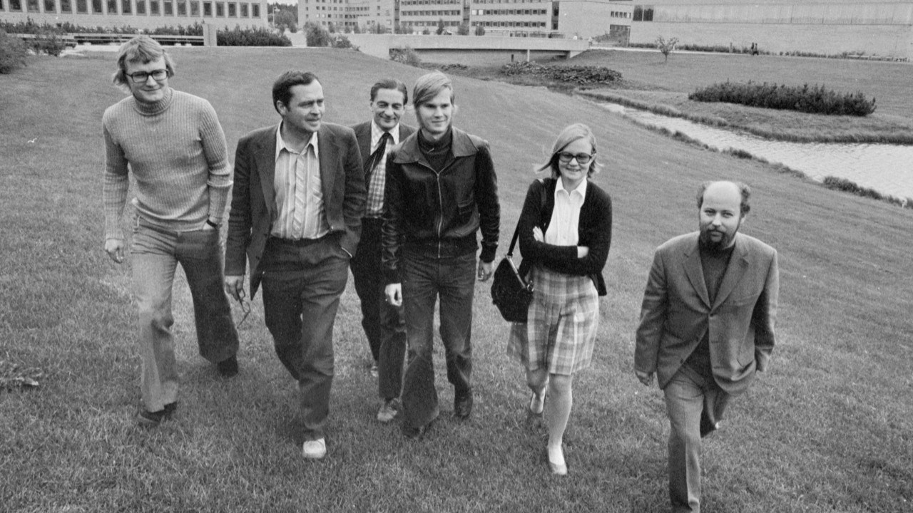
[[[189, 7], [188, 7], [189, 5]], [[176, 6], [176, 7], [175, 7]], [[42, 8], [43, 7], [43, 8]], [[260, 5], [246, 2], [198, 0], [0, 0], [0, 11], [11, 13], [77, 13], [95, 15], [260, 17]]]

